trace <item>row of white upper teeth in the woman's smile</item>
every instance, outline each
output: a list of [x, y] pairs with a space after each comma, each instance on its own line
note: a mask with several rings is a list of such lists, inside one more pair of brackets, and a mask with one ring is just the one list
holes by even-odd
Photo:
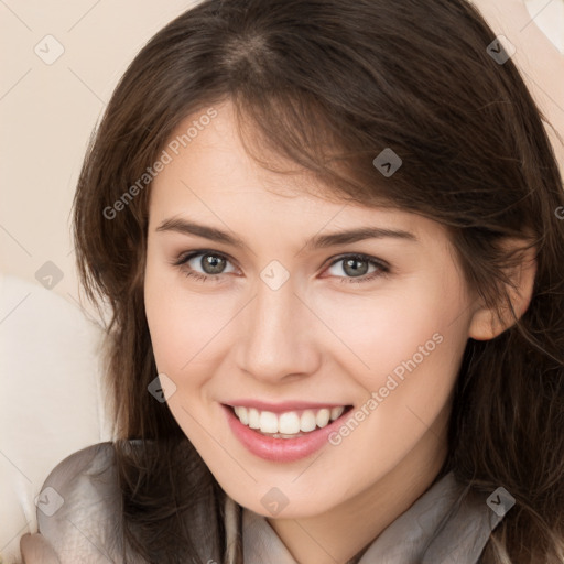
[[[345, 411], [345, 406], [323, 408], [321, 410], [304, 410], [302, 415], [295, 411], [286, 411], [281, 414], [271, 411], [259, 411], [254, 408], [245, 408], [238, 405], [234, 408], [235, 414], [239, 421], [249, 426], [257, 429], [261, 433], [281, 435], [297, 435], [308, 433], [316, 427], [323, 429], [335, 421]], [[285, 438], [285, 436], [284, 436]]]

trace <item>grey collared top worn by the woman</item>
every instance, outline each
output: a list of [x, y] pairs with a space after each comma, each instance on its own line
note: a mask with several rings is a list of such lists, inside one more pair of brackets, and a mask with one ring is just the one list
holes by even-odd
[[[122, 562], [111, 443], [89, 446], [61, 462], [45, 480], [40, 499], [45, 502], [37, 503], [39, 532], [62, 564]], [[466, 491], [452, 473], [446, 474], [348, 564], [476, 564], [503, 518], [491, 507], [486, 496]], [[209, 518], [194, 531], [202, 539], [197, 550], [203, 562], [230, 564], [241, 532], [246, 564], [297, 564], [264, 517], [228, 496], [225, 510], [225, 561]], [[144, 563], [131, 552], [127, 555], [128, 562]]]

